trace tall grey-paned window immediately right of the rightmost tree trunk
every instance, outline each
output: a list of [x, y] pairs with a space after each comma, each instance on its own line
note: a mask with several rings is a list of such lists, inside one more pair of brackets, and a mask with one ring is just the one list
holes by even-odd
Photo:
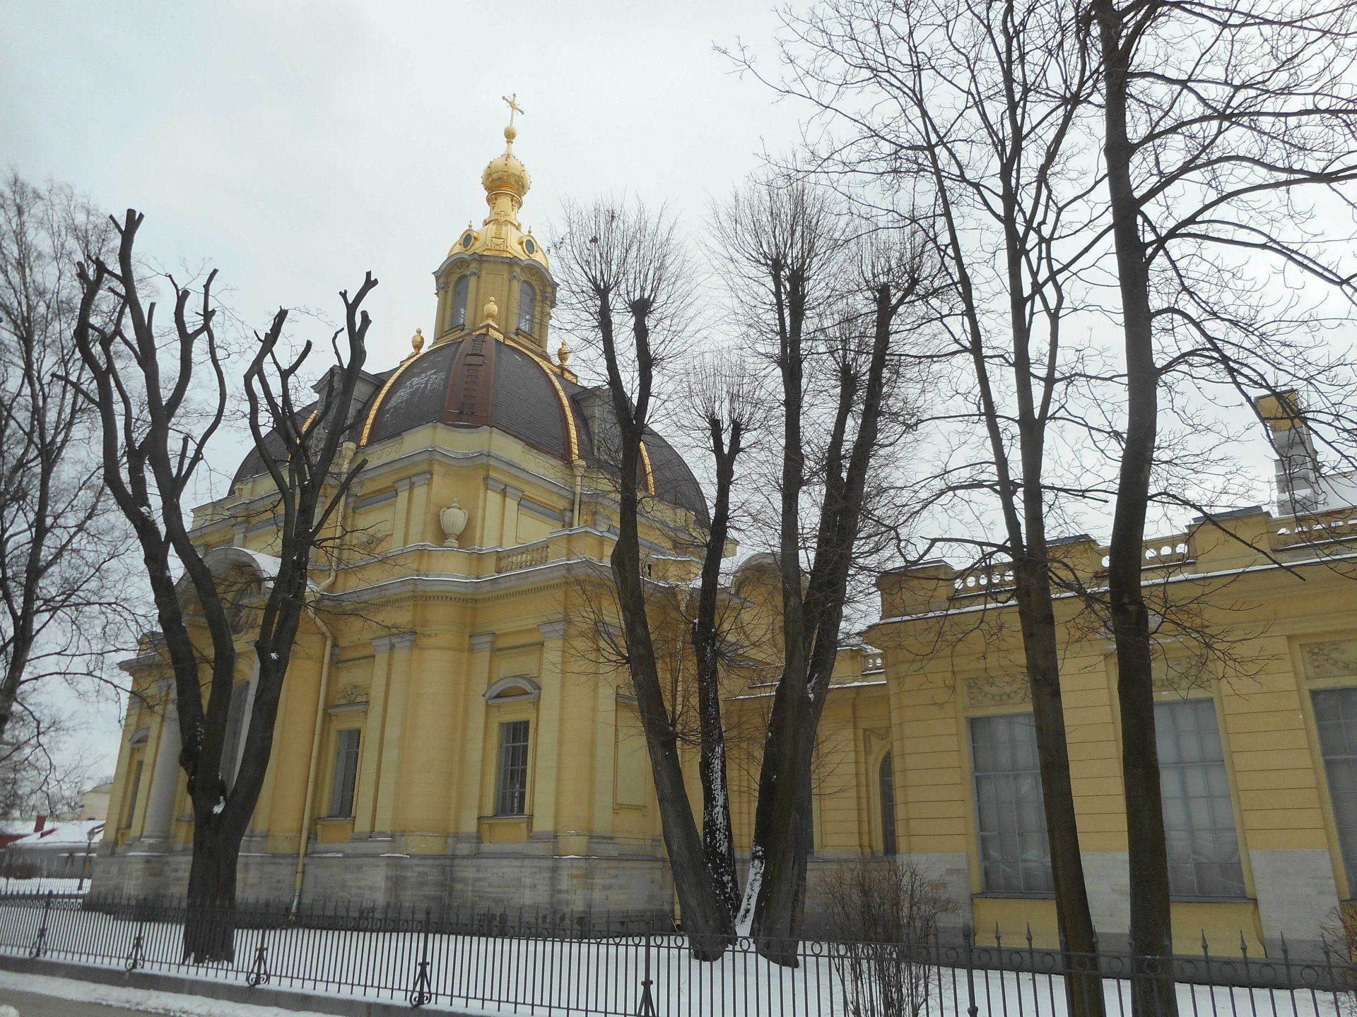
[[1155, 705], [1155, 739], [1175, 896], [1244, 896], [1215, 700]]

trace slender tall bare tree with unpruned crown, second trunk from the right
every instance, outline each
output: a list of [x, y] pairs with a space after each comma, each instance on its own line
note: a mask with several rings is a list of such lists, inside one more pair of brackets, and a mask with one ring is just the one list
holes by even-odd
[[[809, 168], [873, 214], [900, 201], [927, 209], [944, 278], [939, 342], [912, 353], [946, 384], [930, 389], [924, 415], [942, 453], [915, 477], [913, 511], [947, 523], [970, 513], [981, 530], [997, 517], [1003, 536], [944, 526], [917, 557], [959, 548], [985, 580], [978, 590], [1016, 602], [1061, 937], [1092, 953], [1053, 603], [1071, 576], [1050, 553], [1064, 503], [1106, 487], [1050, 456], [1086, 439], [1071, 401], [1092, 380], [1087, 347], [1067, 342], [1082, 235], [1099, 213], [1082, 172], [1094, 76], [1077, 27], [1056, 0], [830, 0], [783, 14], [779, 77], [737, 61], [830, 133], [803, 156]], [[1096, 984], [1071, 984], [1069, 999], [1102, 1010]]]

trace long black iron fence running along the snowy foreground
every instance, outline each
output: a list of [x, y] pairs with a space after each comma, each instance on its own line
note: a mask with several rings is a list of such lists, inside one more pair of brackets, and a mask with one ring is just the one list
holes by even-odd
[[436, 914], [356, 902], [292, 914], [239, 903], [194, 910], [195, 921], [229, 928], [235, 949], [229, 960], [190, 963], [189, 917], [159, 902], [0, 896], [0, 953], [487, 1014], [1125, 1017], [1148, 980], [1170, 986], [1183, 1017], [1357, 1014], [1349, 957], [1300, 960], [1285, 948], [1251, 957], [1243, 942], [1223, 957], [1204, 941], [1200, 956], [1159, 968], [1121, 953], [1041, 949], [1030, 934], [981, 941], [965, 929], [953, 941], [809, 940], [787, 951], [794, 964], [773, 964], [764, 955], [775, 944], [748, 938], [719, 960], [696, 960], [703, 944], [661, 915]]

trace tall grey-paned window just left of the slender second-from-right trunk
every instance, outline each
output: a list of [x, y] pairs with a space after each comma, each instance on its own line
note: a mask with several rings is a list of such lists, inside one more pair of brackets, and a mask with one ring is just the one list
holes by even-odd
[[1050, 845], [1031, 715], [972, 717], [970, 754], [984, 888], [1049, 894]]

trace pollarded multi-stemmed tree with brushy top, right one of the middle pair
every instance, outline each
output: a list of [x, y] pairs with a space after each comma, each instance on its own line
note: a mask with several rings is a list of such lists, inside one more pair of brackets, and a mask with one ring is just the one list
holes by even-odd
[[[849, 231], [859, 229], [859, 236]], [[854, 224], [805, 180], [754, 182], [715, 214], [756, 336], [780, 381], [776, 484], [782, 678], [759, 777], [741, 922], [795, 963], [805, 903], [811, 761], [874, 458], [908, 428], [901, 311], [931, 282], [908, 225]], [[803, 525], [803, 513], [810, 517]]]

